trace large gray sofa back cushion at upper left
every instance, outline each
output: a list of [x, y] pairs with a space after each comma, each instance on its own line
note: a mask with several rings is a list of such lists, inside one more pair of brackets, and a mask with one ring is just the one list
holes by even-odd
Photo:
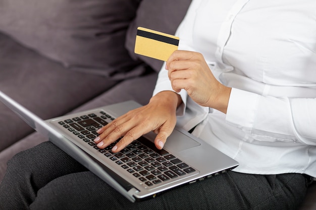
[[143, 68], [126, 50], [140, 0], [0, 0], [0, 31], [79, 71], [124, 79]]

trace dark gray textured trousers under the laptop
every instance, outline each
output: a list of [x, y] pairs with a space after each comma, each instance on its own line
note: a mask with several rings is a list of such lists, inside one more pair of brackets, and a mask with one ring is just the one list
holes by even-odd
[[0, 209], [296, 209], [308, 177], [224, 173], [130, 202], [50, 142], [8, 162]]

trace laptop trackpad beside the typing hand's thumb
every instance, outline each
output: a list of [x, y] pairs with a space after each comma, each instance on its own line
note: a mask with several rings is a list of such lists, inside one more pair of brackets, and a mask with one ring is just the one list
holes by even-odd
[[168, 137], [164, 149], [179, 152], [199, 145], [201, 144], [196, 142], [193, 138], [174, 129], [172, 134]]

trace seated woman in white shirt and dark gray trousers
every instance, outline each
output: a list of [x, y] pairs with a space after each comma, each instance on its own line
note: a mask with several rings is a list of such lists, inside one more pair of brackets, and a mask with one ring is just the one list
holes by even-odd
[[124, 135], [118, 152], [153, 130], [162, 149], [178, 123], [237, 160], [233, 171], [131, 203], [44, 143], [9, 162], [0, 206], [296, 209], [316, 176], [314, 11], [312, 0], [193, 1], [177, 31], [180, 50], [162, 68], [150, 102], [94, 140], [105, 148]]

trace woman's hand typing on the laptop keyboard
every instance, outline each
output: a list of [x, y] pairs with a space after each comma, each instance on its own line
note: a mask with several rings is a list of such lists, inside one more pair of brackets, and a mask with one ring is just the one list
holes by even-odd
[[147, 105], [131, 110], [97, 130], [99, 136], [94, 142], [103, 149], [123, 136], [112, 149], [119, 152], [141, 135], [154, 131], [157, 134], [155, 146], [162, 149], [176, 125], [176, 109], [181, 102], [181, 97], [175, 92], [158, 93]]

